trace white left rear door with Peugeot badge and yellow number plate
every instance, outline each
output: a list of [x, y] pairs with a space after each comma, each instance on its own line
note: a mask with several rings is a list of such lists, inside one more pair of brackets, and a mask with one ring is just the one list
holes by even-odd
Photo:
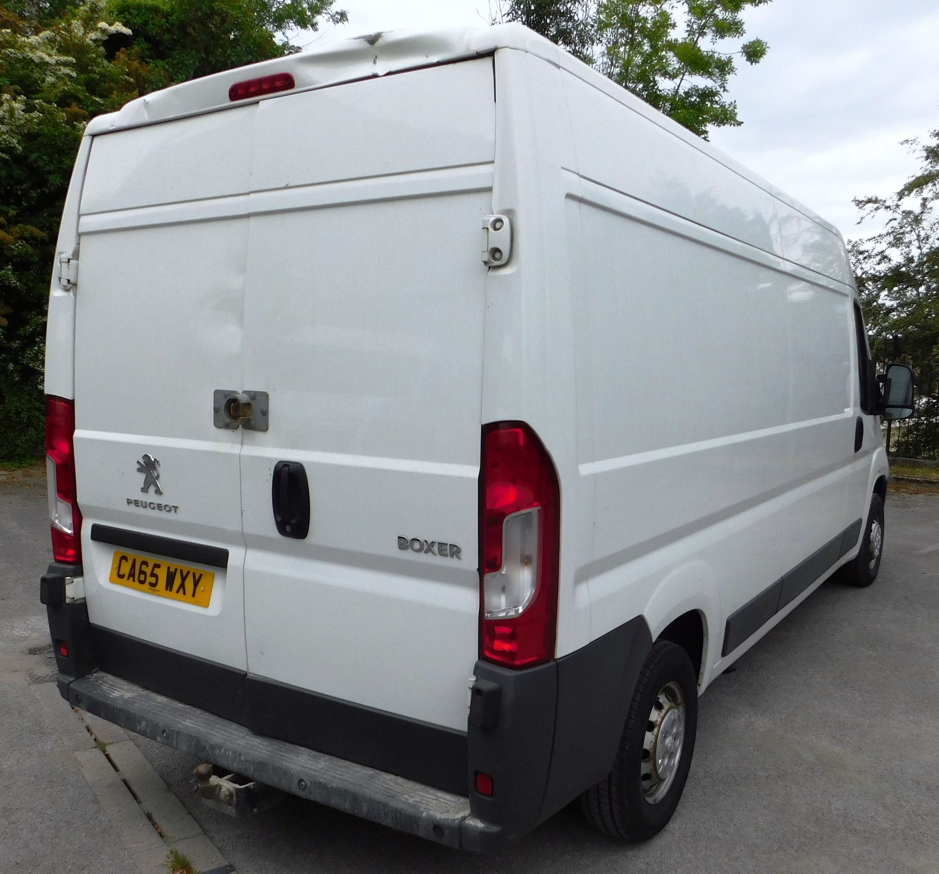
[[249, 220], [232, 213], [255, 113], [91, 148], [75, 328], [85, 587], [102, 657], [122, 653], [115, 669], [141, 682], [173, 668], [134, 641], [246, 667], [241, 431], [213, 426], [212, 398], [241, 385]]

